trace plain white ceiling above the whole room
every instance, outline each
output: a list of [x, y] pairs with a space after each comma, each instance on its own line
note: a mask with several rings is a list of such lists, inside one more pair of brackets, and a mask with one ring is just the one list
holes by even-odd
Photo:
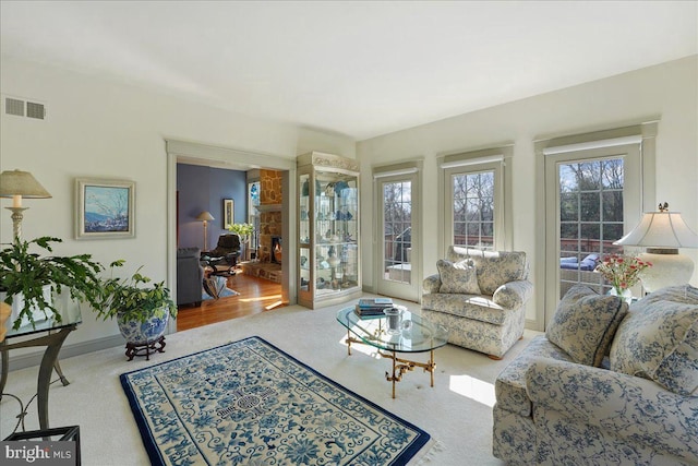
[[697, 1], [0, 1], [2, 57], [357, 141], [698, 53]]

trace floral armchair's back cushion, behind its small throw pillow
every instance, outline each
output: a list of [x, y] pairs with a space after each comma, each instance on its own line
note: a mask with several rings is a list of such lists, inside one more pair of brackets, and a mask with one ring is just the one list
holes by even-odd
[[483, 295], [492, 296], [505, 283], [522, 280], [528, 275], [526, 253], [521, 251], [480, 251], [452, 246], [446, 259], [450, 262], [472, 260]]

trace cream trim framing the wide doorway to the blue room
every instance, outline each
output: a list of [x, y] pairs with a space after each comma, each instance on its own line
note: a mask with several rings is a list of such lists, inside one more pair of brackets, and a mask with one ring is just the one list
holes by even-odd
[[[281, 234], [287, 244], [296, 244], [296, 158], [242, 151], [229, 147], [165, 139], [167, 154], [167, 282], [177, 300], [177, 164], [189, 163], [216, 168], [246, 171], [267, 168], [282, 172], [281, 189]], [[291, 219], [293, 225], [291, 226]], [[288, 238], [288, 240], [286, 239]], [[291, 249], [289, 248], [289, 251]], [[281, 300], [289, 304], [297, 302], [296, 255], [284, 254], [281, 263]], [[177, 324], [170, 320], [168, 333], [176, 333]]]

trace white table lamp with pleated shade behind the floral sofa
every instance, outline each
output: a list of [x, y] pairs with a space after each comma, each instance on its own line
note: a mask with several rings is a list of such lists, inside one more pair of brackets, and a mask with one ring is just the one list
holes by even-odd
[[678, 248], [698, 248], [698, 235], [686, 225], [679, 212], [669, 212], [666, 202], [659, 205], [659, 212], [646, 212], [639, 225], [614, 244], [647, 248], [639, 259], [652, 264], [640, 273], [648, 292], [687, 284], [693, 276], [694, 261], [679, 254]]

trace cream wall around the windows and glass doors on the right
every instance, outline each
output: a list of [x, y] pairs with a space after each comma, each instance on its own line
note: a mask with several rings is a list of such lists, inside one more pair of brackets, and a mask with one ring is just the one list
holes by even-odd
[[[513, 76], [513, 79], [516, 79]], [[373, 218], [371, 166], [424, 157], [424, 192], [421, 237], [424, 238], [424, 276], [436, 273], [437, 190], [436, 156], [444, 153], [496, 146], [513, 142], [514, 157], [514, 249], [531, 259], [532, 276], [542, 261], [535, 250], [537, 179], [533, 141], [587, 131], [612, 129], [659, 118], [657, 139], [657, 200], [681, 211], [686, 223], [698, 231], [698, 57], [637, 70], [579, 86], [543, 94], [384, 136], [362, 141], [357, 158], [363, 174], [362, 237], [372, 238]], [[363, 283], [374, 284], [370, 264], [372, 244], [363, 242]], [[414, 251], [412, 251], [414, 253]], [[682, 250], [698, 262], [696, 250]], [[698, 286], [698, 271], [691, 284]], [[531, 300], [527, 318], [538, 326], [542, 284]]]

